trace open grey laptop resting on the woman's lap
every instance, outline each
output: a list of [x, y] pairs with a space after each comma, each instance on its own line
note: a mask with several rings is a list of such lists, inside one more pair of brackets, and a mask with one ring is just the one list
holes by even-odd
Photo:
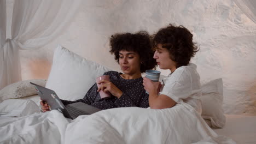
[[53, 90], [39, 86], [36, 83], [30, 83], [36, 86], [39, 97], [49, 105], [50, 110], [58, 110], [63, 113], [66, 118], [75, 119], [80, 115], [91, 115], [101, 110], [82, 102], [63, 105], [62, 101]]

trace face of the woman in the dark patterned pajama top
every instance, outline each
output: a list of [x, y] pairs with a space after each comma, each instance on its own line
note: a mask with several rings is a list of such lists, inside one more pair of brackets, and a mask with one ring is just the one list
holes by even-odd
[[141, 61], [137, 52], [119, 51], [119, 65], [124, 74], [134, 75], [141, 73]]

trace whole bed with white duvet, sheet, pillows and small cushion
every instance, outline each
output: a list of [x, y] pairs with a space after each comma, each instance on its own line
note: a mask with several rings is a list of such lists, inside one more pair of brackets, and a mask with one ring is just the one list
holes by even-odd
[[57, 110], [41, 112], [39, 96], [29, 84], [53, 89], [61, 99], [75, 100], [84, 97], [95, 77], [109, 70], [59, 45], [48, 80], [20, 81], [0, 91], [0, 143], [256, 142], [256, 116], [224, 114], [222, 79], [203, 83], [201, 115], [181, 103], [163, 110], [102, 110], [74, 120]]

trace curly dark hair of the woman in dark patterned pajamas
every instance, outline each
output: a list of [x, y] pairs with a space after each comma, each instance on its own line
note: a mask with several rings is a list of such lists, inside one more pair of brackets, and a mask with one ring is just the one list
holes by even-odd
[[156, 61], [153, 58], [154, 51], [150, 36], [146, 31], [132, 33], [117, 33], [110, 38], [110, 53], [115, 55], [115, 60], [119, 63], [119, 51], [137, 52], [141, 61], [141, 73], [147, 69], [153, 69], [156, 66]]

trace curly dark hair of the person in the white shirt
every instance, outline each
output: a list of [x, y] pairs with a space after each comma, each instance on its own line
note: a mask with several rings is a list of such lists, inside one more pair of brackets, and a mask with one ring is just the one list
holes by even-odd
[[176, 68], [188, 65], [191, 57], [199, 51], [196, 43], [193, 43], [193, 34], [183, 26], [161, 28], [153, 35], [153, 49], [161, 44], [170, 53], [172, 61], [176, 62]]

